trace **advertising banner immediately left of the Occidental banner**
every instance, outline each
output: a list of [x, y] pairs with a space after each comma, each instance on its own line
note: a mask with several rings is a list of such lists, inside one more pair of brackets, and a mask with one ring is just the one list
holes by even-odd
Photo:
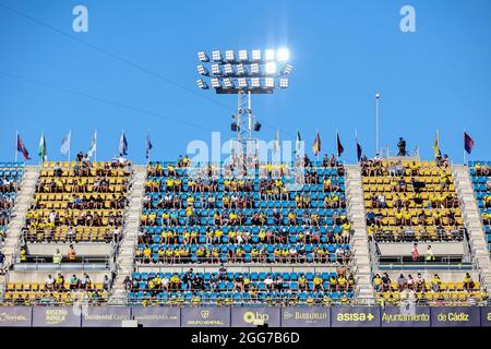
[[72, 306], [34, 306], [35, 327], [80, 327], [81, 311]]

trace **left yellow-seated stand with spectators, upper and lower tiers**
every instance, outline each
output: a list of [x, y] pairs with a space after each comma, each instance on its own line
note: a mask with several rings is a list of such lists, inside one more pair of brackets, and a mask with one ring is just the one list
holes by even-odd
[[122, 157], [89, 161], [81, 155], [76, 161], [43, 164], [9, 270], [7, 302], [108, 300], [131, 174], [131, 163]]

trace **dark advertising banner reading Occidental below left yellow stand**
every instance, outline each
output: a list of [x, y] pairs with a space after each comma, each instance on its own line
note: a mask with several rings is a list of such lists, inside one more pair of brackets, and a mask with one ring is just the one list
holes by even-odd
[[91, 306], [82, 312], [82, 327], [121, 327], [130, 320], [128, 306]]

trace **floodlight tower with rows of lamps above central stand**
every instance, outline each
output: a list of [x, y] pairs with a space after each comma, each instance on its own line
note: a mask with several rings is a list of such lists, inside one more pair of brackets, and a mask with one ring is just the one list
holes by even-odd
[[202, 75], [196, 81], [200, 88], [209, 89], [204, 80], [208, 77], [217, 94], [237, 95], [237, 115], [232, 116], [230, 129], [237, 132], [241, 151], [247, 153], [248, 144], [252, 145], [253, 131], [261, 130], [261, 123], [252, 113], [252, 95], [273, 94], [276, 87], [288, 87], [287, 75], [292, 71], [292, 65], [288, 63], [288, 49], [254, 49], [250, 52], [241, 49], [237, 53], [226, 50], [225, 55], [215, 50], [211, 58], [201, 51], [197, 59], [197, 73]]

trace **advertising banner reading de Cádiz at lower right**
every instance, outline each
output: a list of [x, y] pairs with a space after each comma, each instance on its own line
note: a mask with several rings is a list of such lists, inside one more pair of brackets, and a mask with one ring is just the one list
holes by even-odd
[[480, 326], [481, 312], [477, 306], [433, 306], [431, 308], [432, 327], [472, 327]]

